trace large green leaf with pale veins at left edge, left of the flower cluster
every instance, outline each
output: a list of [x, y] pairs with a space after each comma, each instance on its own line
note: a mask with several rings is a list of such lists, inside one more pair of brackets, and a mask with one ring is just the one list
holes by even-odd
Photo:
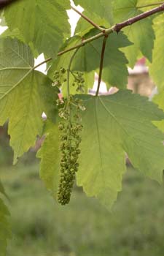
[[9, 118], [14, 162], [42, 132], [42, 112], [52, 117], [57, 99], [52, 81], [34, 71], [34, 57], [17, 39], [0, 40], [0, 125]]

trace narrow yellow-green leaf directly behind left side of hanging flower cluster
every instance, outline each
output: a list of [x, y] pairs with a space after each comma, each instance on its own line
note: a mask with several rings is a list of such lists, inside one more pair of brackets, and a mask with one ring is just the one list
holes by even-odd
[[58, 125], [46, 121], [44, 127], [46, 138], [42, 148], [38, 151], [37, 157], [41, 158], [40, 177], [47, 189], [56, 199], [60, 178], [60, 151]]

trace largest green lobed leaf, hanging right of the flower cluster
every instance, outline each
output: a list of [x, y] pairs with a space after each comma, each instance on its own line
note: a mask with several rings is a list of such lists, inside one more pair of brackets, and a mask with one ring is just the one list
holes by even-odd
[[163, 181], [163, 134], [152, 120], [164, 113], [146, 97], [119, 91], [101, 97], [84, 96], [83, 132], [77, 184], [88, 196], [98, 197], [109, 208], [122, 189], [125, 153], [133, 166]]

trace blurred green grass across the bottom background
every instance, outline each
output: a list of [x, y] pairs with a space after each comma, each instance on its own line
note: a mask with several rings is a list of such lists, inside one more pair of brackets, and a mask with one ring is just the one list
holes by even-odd
[[38, 165], [1, 170], [12, 214], [7, 256], [163, 255], [163, 186], [128, 168], [110, 213], [82, 189], [58, 206], [38, 173]]

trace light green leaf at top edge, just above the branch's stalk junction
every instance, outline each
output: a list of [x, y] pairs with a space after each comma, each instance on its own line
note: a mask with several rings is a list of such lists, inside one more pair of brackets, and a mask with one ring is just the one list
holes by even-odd
[[[110, 24], [113, 23], [112, 0], [75, 0], [74, 3], [80, 4], [87, 10], [87, 13], [90, 14], [89, 18], [92, 19], [96, 14]], [[97, 20], [93, 21], [97, 22]]]

